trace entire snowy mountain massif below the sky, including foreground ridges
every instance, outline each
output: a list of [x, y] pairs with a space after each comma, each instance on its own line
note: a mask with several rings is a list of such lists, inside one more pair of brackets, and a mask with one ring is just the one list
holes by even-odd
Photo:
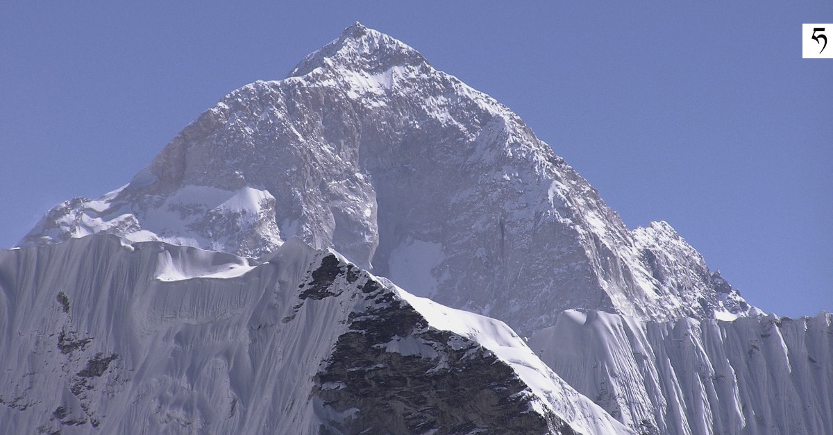
[[19, 245], [10, 433], [833, 433], [831, 314], [751, 307], [358, 23]]

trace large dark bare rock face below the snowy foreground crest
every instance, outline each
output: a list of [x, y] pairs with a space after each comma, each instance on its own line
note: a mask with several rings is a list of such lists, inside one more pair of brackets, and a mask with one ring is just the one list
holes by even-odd
[[[531, 393], [486, 348], [427, 327], [426, 319], [372, 280], [372, 308], [350, 316], [314, 391], [333, 418], [322, 433], [573, 433], [554, 415], [531, 411]], [[415, 340], [424, 355], [387, 351]], [[344, 415], [347, 415], [344, 414]]]

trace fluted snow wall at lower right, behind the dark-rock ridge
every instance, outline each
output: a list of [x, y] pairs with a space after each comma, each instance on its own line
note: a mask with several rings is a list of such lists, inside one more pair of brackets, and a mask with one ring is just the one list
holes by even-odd
[[734, 322], [567, 311], [530, 347], [640, 433], [833, 433], [833, 315]]

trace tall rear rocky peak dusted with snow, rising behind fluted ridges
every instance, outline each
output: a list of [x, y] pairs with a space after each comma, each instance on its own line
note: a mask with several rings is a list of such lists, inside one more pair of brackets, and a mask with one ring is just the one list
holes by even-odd
[[516, 114], [360, 24], [286, 79], [230, 93], [127, 187], [52, 210], [22, 245], [97, 232], [245, 256], [297, 236], [523, 333], [567, 308], [721, 308], [705, 263], [640, 244]]

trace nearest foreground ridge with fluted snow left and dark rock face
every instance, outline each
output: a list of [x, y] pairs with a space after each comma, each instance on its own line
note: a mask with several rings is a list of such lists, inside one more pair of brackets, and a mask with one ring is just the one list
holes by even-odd
[[502, 323], [297, 239], [260, 264], [104, 235], [0, 251], [0, 312], [8, 433], [628, 432]]

